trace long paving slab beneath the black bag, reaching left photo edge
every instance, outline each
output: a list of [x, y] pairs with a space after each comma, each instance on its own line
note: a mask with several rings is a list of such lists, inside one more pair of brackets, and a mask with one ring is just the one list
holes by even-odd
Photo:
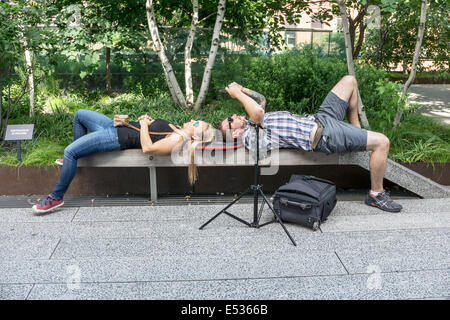
[[[72, 223], [46, 222], [46, 223], [1, 223], [0, 234], [3, 238], [189, 238], [189, 237], [224, 237], [241, 235], [285, 235], [278, 223], [265, 226], [261, 229], [249, 228], [226, 215], [219, 216], [203, 230], [199, 227], [210, 218], [215, 211], [205, 214], [207, 217], [191, 217], [189, 219], [170, 221], [82, 221]], [[241, 215], [247, 221], [251, 221], [250, 215]], [[264, 214], [262, 221], [270, 221], [272, 217]], [[427, 229], [448, 228], [450, 215], [446, 212], [438, 213], [376, 213], [352, 216], [331, 215], [321, 225], [321, 231], [345, 232], [345, 231], [378, 231], [378, 230], [403, 230], [403, 229]], [[310, 229], [286, 224], [293, 236], [310, 235], [314, 233]], [[0, 237], [0, 238], [1, 238]]]

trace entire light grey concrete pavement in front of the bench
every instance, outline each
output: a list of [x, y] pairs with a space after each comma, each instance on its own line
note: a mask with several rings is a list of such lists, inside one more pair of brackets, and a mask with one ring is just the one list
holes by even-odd
[[339, 201], [317, 232], [287, 225], [297, 247], [275, 223], [199, 230], [223, 205], [0, 209], [0, 299], [450, 298], [450, 199], [397, 201]]

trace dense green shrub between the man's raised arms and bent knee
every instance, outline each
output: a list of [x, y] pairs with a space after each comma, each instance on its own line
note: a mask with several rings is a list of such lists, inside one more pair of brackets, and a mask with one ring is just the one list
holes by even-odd
[[314, 113], [333, 85], [346, 74], [337, 58], [319, 58], [311, 50], [291, 50], [253, 58], [242, 85], [262, 93], [267, 110]]

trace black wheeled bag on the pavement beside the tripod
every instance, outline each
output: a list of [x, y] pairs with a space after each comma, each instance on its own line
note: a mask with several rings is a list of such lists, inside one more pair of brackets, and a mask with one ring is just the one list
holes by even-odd
[[316, 231], [336, 206], [336, 185], [313, 176], [292, 175], [275, 192], [273, 207], [281, 220]]

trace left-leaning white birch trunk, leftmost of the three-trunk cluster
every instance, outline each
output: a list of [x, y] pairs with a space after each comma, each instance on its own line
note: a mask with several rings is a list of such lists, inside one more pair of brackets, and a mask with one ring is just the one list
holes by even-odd
[[155, 44], [156, 53], [158, 54], [159, 60], [161, 60], [170, 94], [177, 105], [181, 106], [183, 109], [186, 109], [186, 99], [180, 89], [180, 86], [178, 85], [172, 65], [166, 56], [164, 47], [159, 37], [158, 26], [156, 25], [155, 13], [153, 11], [153, 0], [147, 0], [145, 8], [147, 11], [148, 28], [150, 30], [153, 43]]

